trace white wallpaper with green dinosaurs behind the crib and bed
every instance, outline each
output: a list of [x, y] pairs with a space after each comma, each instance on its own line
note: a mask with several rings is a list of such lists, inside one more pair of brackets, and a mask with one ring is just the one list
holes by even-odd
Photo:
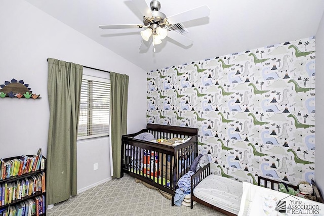
[[315, 37], [148, 72], [147, 122], [197, 127], [216, 175], [309, 182]]

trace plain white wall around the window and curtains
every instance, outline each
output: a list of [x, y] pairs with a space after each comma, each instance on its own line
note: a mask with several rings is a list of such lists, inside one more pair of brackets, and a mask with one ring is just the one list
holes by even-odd
[[[23, 0], [2, 1], [0, 20], [0, 84], [13, 78], [24, 80], [42, 97], [0, 98], [0, 157], [34, 154], [38, 148], [46, 155], [48, 57], [128, 74], [128, 133], [145, 127], [144, 70]], [[78, 190], [110, 177], [108, 149], [108, 138], [78, 142]], [[95, 162], [99, 169], [93, 171]]]

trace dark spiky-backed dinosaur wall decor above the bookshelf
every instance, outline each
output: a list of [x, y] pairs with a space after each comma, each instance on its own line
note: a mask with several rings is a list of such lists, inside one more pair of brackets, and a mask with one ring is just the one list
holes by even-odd
[[32, 94], [28, 84], [25, 84], [23, 80], [17, 81], [12, 79], [11, 81], [5, 81], [5, 84], [0, 84], [0, 98], [32, 98], [39, 99], [40, 95]]

